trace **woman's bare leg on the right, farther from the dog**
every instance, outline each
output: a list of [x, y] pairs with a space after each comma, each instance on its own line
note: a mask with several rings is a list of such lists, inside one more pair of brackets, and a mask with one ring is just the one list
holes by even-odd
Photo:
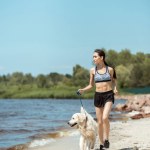
[[112, 108], [112, 102], [107, 102], [104, 106], [104, 111], [103, 111], [103, 116], [102, 116], [105, 140], [109, 139], [109, 131], [110, 131], [109, 114], [110, 114], [111, 108]]

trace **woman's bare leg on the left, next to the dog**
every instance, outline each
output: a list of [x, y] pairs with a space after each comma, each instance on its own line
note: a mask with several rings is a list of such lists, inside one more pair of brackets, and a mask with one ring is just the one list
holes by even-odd
[[98, 134], [99, 134], [99, 140], [100, 140], [100, 144], [103, 145], [104, 144], [104, 138], [103, 138], [103, 108], [98, 108], [95, 107], [96, 110], [96, 118], [97, 118], [97, 123], [98, 123]]

